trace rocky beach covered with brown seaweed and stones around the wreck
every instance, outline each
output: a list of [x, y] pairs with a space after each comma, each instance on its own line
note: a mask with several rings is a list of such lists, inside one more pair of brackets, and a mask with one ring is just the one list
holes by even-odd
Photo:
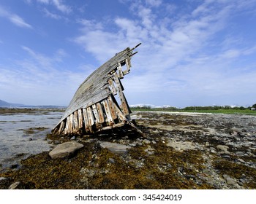
[[[256, 189], [255, 116], [134, 111], [132, 118], [144, 136], [48, 133], [49, 151], [2, 168], [1, 189]], [[79, 148], [53, 156], [61, 145]]]

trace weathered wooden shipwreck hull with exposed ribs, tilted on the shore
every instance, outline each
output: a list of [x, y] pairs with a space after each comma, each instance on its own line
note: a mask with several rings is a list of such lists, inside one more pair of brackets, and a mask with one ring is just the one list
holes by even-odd
[[[139, 45], [118, 52], [87, 77], [78, 87], [63, 117], [54, 127], [54, 135], [98, 133], [124, 125], [143, 134], [129, 117], [131, 110], [120, 80], [129, 74], [131, 57], [137, 53], [133, 50]], [[120, 105], [115, 96], [118, 96]]]

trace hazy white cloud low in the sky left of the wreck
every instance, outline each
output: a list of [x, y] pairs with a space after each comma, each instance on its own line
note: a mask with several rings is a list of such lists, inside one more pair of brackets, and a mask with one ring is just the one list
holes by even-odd
[[68, 55], [61, 49], [52, 55], [44, 55], [25, 46], [22, 49], [26, 54], [23, 60], [15, 60], [9, 66], [0, 64], [1, 95], [8, 95], [4, 99], [18, 103], [30, 101], [32, 105], [67, 106], [90, 68], [70, 71], [64, 64]]

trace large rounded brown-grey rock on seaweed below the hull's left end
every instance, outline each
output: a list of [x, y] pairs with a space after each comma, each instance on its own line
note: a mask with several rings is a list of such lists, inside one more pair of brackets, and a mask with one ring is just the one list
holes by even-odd
[[68, 141], [63, 144], [59, 144], [50, 151], [49, 155], [52, 159], [59, 159], [64, 157], [69, 157], [75, 153], [78, 149], [81, 149], [83, 144], [80, 144], [76, 141]]

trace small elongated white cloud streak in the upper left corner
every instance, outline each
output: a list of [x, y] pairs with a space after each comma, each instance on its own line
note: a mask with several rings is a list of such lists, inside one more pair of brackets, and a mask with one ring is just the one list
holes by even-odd
[[33, 28], [29, 23], [26, 23], [22, 17], [7, 11], [7, 9], [4, 9], [3, 7], [0, 7], [0, 17], [6, 17], [8, 20], [10, 20], [10, 22], [15, 24], [15, 26], [22, 28]]

